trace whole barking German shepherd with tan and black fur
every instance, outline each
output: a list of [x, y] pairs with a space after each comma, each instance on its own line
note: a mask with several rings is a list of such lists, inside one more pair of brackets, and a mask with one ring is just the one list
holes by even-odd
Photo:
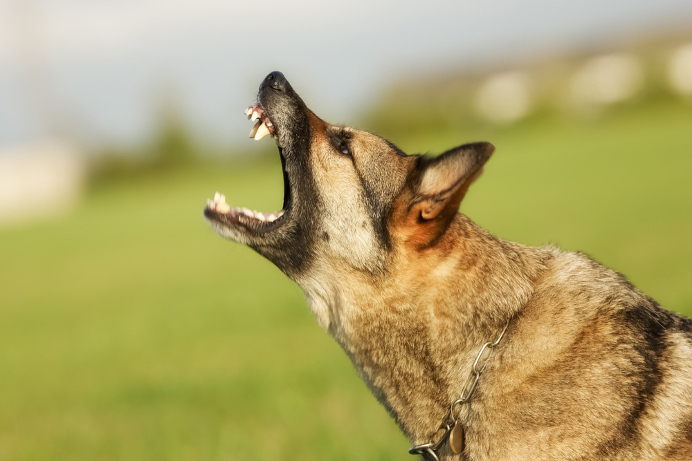
[[584, 254], [460, 214], [492, 144], [406, 155], [321, 120], [279, 72], [246, 114], [279, 148], [283, 209], [217, 194], [204, 216], [300, 285], [411, 453], [692, 460], [692, 320]]

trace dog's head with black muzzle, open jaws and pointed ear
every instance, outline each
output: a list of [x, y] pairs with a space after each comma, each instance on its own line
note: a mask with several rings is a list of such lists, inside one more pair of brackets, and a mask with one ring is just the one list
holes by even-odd
[[381, 274], [400, 251], [435, 245], [494, 149], [480, 142], [407, 156], [377, 135], [321, 120], [280, 72], [266, 76], [246, 113], [257, 120], [251, 136], [272, 135], [279, 147], [283, 209], [255, 214], [217, 196], [204, 216], [295, 280], [313, 270]]

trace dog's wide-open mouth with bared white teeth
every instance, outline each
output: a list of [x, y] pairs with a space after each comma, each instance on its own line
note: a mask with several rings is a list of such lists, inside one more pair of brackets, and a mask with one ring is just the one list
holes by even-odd
[[[255, 122], [253, 129], [250, 131], [250, 138], [253, 138], [255, 141], [261, 140], [266, 135], [274, 138], [276, 127], [269, 120], [262, 104], [259, 102], [252, 104], [246, 109], [245, 115], [248, 116], [248, 120]], [[226, 203], [226, 196], [217, 192], [213, 200], [207, 199], [207, 207], [204, 213], [207, 218], [260, 234], [280, 225], [282, 217], [289, 211], [291, 205], [291, 189], [289, 187], [289, 177], [286, 173], [286, 160], [283, 156], [283, 149], [278, 142], [276, 144], [279, 148], [284, 176], [284, 203], [282, 209], [271, 213], [263, 213], [262, 211], [251, 210], [245, 207], [231, 207]]]

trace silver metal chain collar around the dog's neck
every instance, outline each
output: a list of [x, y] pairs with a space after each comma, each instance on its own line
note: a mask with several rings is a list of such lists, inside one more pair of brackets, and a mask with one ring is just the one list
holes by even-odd
[[478, 354], [476, 355], [475, 360], [473, 361], [473, 367], [471, 367], [471, 376], [469, 376], [468, 380], [466, 381], [466, 386], [464, 386], [464, 392], [462, 392], [462, 395], [460, 395], [459, 398], [452, 402], [452, 404], [449, 406], [449, 411], [447, 412], [447, 415], [444, 417], [444, 420], [442, 421], [442, 424], [440, 424], [439, 429], [437, 429], [437, 432], [442, 431], [442, 434], [440, 435], [439, 439], [437, 439], [437, 442], [428, 442], [426, 444], [414, 445], [410, 449], [408, 449], [408, 453], [410, 453], [411, 455], [423, 455], [426, 461], [439, 461], [439, 449], [441, 449], [444, 443], [447, 442], [447, 440], [449, 439], [450, 432], [452, 431], [452, 429], [454, 429], [454, 426], [457, 424], [457, 417], [459, 417], [459, 411], [461, 410], [461, 406], [468, 402], [469, 399], [471, 399], [471, 395], [473, 395], [473, 391], [475, 391], [476, 384], [478, 384], [480, 374], [483, 373], [483, 370], [485, 370], [485, 366], [488, 364], [488, 361], [490, 360], [490, 355], [488, 355], [488, 357], [486, 357], [486, 359], [481, 363], [480, 359], [483, 356], [483, 352], [485, 352], [486, 349], [492, 349], [498, 344], [500, 344], [500, 341], [502, 341], [502, 337], [504, 337], [504, 332], [507, 331], [508, 327], [509, 323], [507, 323], [507, 325], [504, 326], [502, 332], [500, 333], [500, 336], [498, 337], [498, 339], [495, 339], [494, 342], [487, 342], [486, 344], [483, 344], [483, 346], [481, 346], [480, 350], [478, 351]]

